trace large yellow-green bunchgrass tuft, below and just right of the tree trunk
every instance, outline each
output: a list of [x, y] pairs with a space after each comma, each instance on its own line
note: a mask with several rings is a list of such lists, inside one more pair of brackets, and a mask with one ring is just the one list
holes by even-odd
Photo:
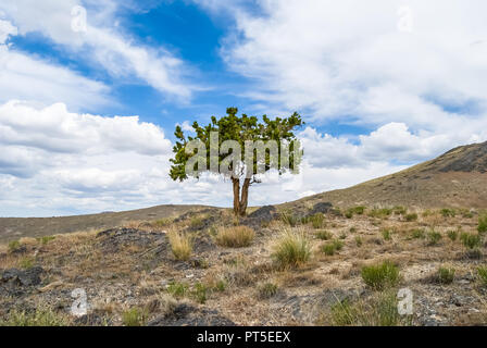
[[301, 233], [285, 232], [277, 240], [272, 258], [280, 268], [296, 268], [311, 257], [310, 245]]

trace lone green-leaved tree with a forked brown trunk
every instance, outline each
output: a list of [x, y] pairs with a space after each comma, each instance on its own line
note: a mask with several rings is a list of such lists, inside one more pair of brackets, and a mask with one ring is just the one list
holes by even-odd
[[237, 112], [237, 108], [228, 108], [226, 116], [212, 116], [208, 126], [195, 122], [193, 137], [186, 137], [176, 126], [170, 176], [183, 182], [210, 172], [232, 179], [234, 213], [245, 216], [249, 187], [261, 182], [260, 175], [271, 170], [279, 175], [299, 173], [302, 149], [294, 130], [304, 122], [296, 112], [275, 120], [263, 115], [262, 122], [255, 116], [238, 116]]

